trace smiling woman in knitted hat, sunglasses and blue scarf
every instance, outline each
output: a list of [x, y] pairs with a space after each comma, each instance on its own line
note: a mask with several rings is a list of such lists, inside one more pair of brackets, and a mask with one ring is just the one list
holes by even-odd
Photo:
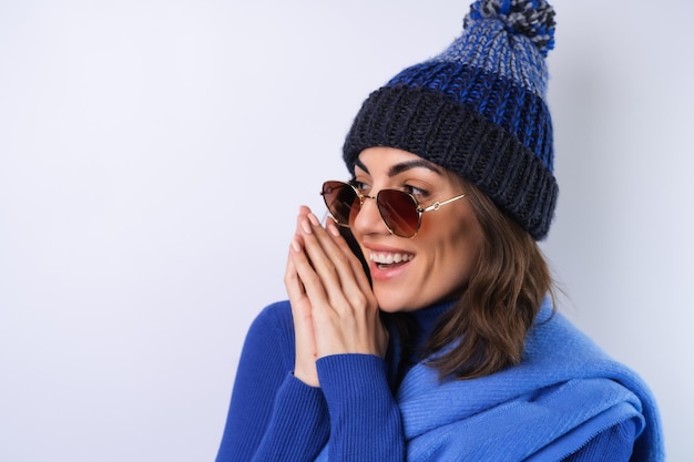
[[[474, 2], [347, 135], [244, 346], [217, 461], [656, 461], [639, 377], [551, 304], [554, 12]], [[345, 237], [343, 237], [345, 236]], [[366, 270], [365, 270], [366, 268]]]

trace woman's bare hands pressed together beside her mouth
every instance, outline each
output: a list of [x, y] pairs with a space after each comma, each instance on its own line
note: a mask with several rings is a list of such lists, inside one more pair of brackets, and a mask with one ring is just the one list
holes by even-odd
[[294, 374], [317, 387], [318, 358], [339, 353], [384, 357], [388, 335], [361, 263], [337, 225], [320, 226], [302, 207], [292, 240], [285, 286], [296, 336]]

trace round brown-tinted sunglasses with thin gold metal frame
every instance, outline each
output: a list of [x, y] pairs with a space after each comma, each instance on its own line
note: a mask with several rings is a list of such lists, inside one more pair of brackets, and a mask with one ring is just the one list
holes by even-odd
[[425, 212], [438, 211], [441, 206], [466, 196], [461, 194], [422, 207], [415, 196], [405, 191], [380, 189], [376, 197], [366, 196], [354, 185], [337, 181], [325, 182], [320, 195], [335, 223], [345, 227], [349, 227], [351, 219], [361, 209], [364, 201], [375, 199], [380, 217], [390, 234], [408, 238], [417, 236], [421, 226], [421, 215]]

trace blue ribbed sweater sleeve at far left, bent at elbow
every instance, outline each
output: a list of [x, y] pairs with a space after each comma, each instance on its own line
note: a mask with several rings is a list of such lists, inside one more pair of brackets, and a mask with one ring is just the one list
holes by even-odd
[[296, 379], [287, 302], [254, 320], [236, 370], [217, 462], [313, 461], [328, 438], [322, 391]]

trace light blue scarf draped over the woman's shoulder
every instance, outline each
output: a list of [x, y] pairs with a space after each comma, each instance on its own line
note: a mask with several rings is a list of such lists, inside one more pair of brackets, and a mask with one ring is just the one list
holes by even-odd
[[[627, 419], [639, 434], [631, 460], [664, 460], [646, 384], [553, 312], [549, 300], [519, 366], [440, 382], [435, 369], [419, 363], [396, 400], [409, 462], [560, 460]], [[327, 450], [318, 460], [327, 460]]]

